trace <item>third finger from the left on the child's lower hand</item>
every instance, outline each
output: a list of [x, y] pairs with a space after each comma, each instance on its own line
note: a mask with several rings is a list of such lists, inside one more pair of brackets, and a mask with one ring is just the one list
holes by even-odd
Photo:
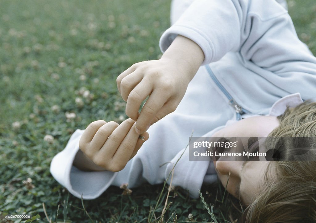
[[123, 121], [117, 128], [115, 128], [100, 149], [98, 156], [112, 158], [134, 123], [134, 120], [127, 119]]

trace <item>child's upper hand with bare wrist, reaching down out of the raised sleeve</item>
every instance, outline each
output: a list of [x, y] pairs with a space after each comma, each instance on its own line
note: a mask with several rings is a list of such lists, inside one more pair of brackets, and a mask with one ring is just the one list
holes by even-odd
[[126, 114], [137, 120], [138, 134], [177, 108], [203, 60], [203, 51], [196, 43], [178, 36], [160, 60], [136, 63], [119, 75], [117, 85], [127, 102]]

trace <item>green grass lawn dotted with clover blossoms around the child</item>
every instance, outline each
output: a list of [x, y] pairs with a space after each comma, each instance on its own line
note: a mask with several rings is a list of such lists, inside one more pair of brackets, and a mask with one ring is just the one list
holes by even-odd
[[[115, 79], [131, 64], [161, 56], [158, 41], [169, 26], [169, 5], [167, 0], [0, 2], [2, 217], [32, 214], [40, 222], [159, 220], [168, 191], [157, 203], [164, 185], [144, 185], [131, 195], [110, 187], [99, 198], [82, 201], [52, 178], [49, 165], [77, 128], [97, 119], [126, 118]], [[315, 54], [316, 3], [296, 0], [289, 6], [299, 37]], [[238, 218], [238, 201], [227, 193], [223, 197], [221, 186], [203, 186], [202, 195], [191, 199], [174, 188], [164, 220]]]

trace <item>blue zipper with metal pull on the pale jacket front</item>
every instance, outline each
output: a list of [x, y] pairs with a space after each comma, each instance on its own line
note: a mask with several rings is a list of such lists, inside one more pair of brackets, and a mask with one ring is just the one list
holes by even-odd
[[230, 106], [232, 106], [235, 109], [236, 112], [236, 119], [237, 120], [241, 120], [241, 115], [242, 114], [249, 114], [250, 111], [244, 109], [243, 107], [240, 106], [240, 104], [238, 104], [235, 99], [228, 93], [228, 91], [224, 88], [224, 86], [221, 84], [221, 82], [219, 82], [219, 80], [217, 79], [217, 77], [215, 76], [215, 74], [213, 73], [213, 71], [210, 68], [210, 65], [205, 65], [207, 72], [210, 74], [211, 78], [214, 80], [214, 82], [216, 83], [216, 85], [218, 86], [218, 88], [224, 93], [224, 95], [227, 97], [228, 99], [228, 104]]

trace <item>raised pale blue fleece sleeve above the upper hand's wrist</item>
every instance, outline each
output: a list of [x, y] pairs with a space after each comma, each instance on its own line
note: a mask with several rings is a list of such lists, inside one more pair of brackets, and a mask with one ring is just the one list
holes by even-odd
[[196, 0], [179, 20], [163, 33], [164, 52], [177, 35], [196, 42], [204, 52], [203, 64], [240, 52], [246, 60], [280, 70], [284, 61], [315, 63], [296, 35], [287, 11], [275, 0]]

